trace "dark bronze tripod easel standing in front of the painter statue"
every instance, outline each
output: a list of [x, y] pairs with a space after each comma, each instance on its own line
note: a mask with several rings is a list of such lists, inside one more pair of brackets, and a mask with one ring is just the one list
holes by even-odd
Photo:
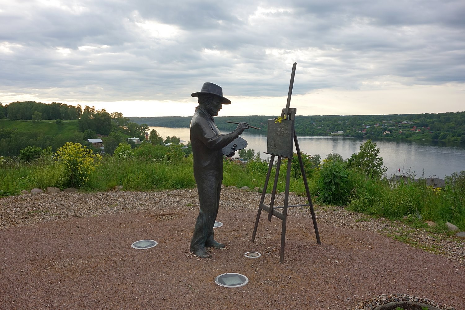
[[[253, 234], [252, 234], [252, 242], [255, 241], [255, 236], [257, 234], [257, 228], [259, 226], [259, 220], [260, 220], [260, 215], [261, 211], [265, 210], [268, 212], [268, 221], [271, 222], [271, 218], [274, 215], [275, 217], [279, 218], [280, 220], [283, 221], [283, 226], [281, 230], [281, 252], [280, 252], [280, 258], [279, 258], [279, 263], [282, 263], [284, 260], [284, 246], [286, 242], [286, 221], [287, 221], [287, 208], [291, 207], [300, 207], [300, 206], [309, 206], [310, 211], [312, 212], [312, 220], [313, 220], [313, 227], [315, 228], [315, 235], [317, 238], [317, 243], [321, 244], [320, 238], [319, 238], [319, 233], [318, 233], [318, 226], [317, 226], [317, 221], [315, 217], [315, 211], [313, 210], [313, 204], [312, 204], [312, 196], [310, 195], [310, 190], [308, 189], [308, 182], [307, 182], [307, 177], [305, 174], [304, 170], [304, 164], [302, 162], [302, 154], [300, 153], [300, 147], [299, 147], [299, 141], [297, 140], [297, 135], [294, 131], [294, 118], [295, 114], [297, 112], [296, 108], [289, 108], [290, 103], [291, 103], [291, 95], [292, 95], [292, 87], [294, 84], [294, 76], [295, 76], [295, 69], [296, 69], [297, 63], [294, 63], [292, 66], [292, 75], [291, 75], [291, 83], [289, 85], [289, 92], [287, 95], [287, 104], [286, 108], [282, 110], [281, 112], [281, 118], [284, 119], [286, 117], [285, 122], [287, 123], [286, 129], [281, 129], [281, 132], [276, 134], [276, 136], [273, 136], [272, 140], [276, 141], [275, 144], [278, 144], [277, 147], [270, 146], [268, 144], [267, 147], [267, 152], [266, 154], [270, 154], [270, 165], [268, 166], [268, 172], [266, 173], [266, 179], [265, 179], [265, 184], [263, 185], [263, 192], [262, 196], [260, 199], [260, 204], [259, 204], [259, 209], [257, 212], [257, 219], [255, 220], [255, 226], [253, 228]], [[284, 120], [281, 120], [284, 121]], [[269, 124], [272, 124], [272, 122]], [[284, 133], [284, 134], [282, 134]], [[268, 139], [270, 140], [270, 126], [268, 127]], [[282, 139], [279, 139], [280, 136], [282, 136]], [[290, 141], [289, 141], [289, 140]], [[292, 139], [293, 139], [293, 144], [295, 145], [296, 151], [297, 151], [297, 157], [299, 158], [299, 164], [300, 164], [300, 171], [302, 172], [302, 178], [304, 181], [305, 185], [305, 191], [306, 195], [308, 198], [308, 204], [295, 204], [295, 205], [288, 205], [289, 201], [289, 184], [291, 180], [291, 163], [292, 163]], [[276, 145], [275, 145], [276, 146]], [[290, 150], [289, 150], [290, 147]], [[278, 156], [278, 160], [276, 163], [276, 173], [274, 176], [274, 183], [273, 183], [273, 190], [271, 193], [271, 201], [270, 205], [267, 205], [264, 203], [265, 201], [265, 194], [266, 194], [266, 189], [268, 187], [268, 182], [270, 180], [270, 175], [271, 171], [273, 168], [274, 164], [274, 158], [275, 156]], [[286, 190], [284, 194], [284, 205], [283, 206], [274, 206], [274, 199], [276, 197], [276, 190], [278, 186], [278, 179], [279, 179], [279, 168], [281, 166], [281, 158], [287, 158], [287, 171], [286, 171]], [[279, 212], [276, 209], [283, 209], [283, 212]]]

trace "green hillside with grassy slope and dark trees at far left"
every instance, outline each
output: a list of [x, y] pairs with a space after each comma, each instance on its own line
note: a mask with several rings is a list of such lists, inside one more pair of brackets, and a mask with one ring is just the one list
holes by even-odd
[[[46, 117], [47, 119], [44, 119]], [[50, 119], [49, 119], [50, 118]], [[87, 139], [101, 138], [105, 152], [113, 154], [127, 138], [145, 139], [146, 125], [130, 122], [119, 112], [108, 113], [94, 107], [68, 106], [53, 102], [0, 103], [0, 156], [14, 157], [26, 147], [56, 151], [66, 142], [93, 149]], [[96, 147], [95, 152], [100, 152]]]

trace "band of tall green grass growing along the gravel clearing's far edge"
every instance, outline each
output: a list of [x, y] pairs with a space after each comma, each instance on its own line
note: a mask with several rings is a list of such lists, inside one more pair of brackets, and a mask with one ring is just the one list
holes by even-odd
[[[148, 152], [148, 150], [145, 150]], [[134, 158], [105, 157], [102, 165], [90, 175], [82, 191], [110, 191], [123, 185], [127, 191], [161, 191], [195, 187], [192, 157], [172, 158], [159, 154]], [[223, 184], [237, 187], [263, 188], [268, 171], [266, 161], [256, 160], [238, 165], [224, 163]], [[323, 166], [322, 166], [323, 167]], [[267, 192], [272, 191], [275, 165], [272, 168]], [[328, 168], [329, 169], [329, 168]], [[313, 169], [307, 176], [312, 195], [320, 195], [324, 179], [323, 169]], [[329, 169], [331, 173], [334, 172]], [[19, 194], [21, 190], [45, 189], [55, 186], [63, 189], [66, 171], [53, 160], [19, 163], [5, 160], [0, 163], [0, 197]], [[444, 189], [432, 189], [422, 182], [391, 183], [386, 179], [366, 178], [355, 170], [348, 171], [345, 195], [347, 208], [380, 217], [401, 219], [404, 216], [432, 220], [438, 224], [451, 222], [465, 231], [465, 171], [446, 178]], [[286, 162], [282, 163], [277, 191], [285, 191]], [[330, 185], [328, 185], [330, 186]], [[290, 191], [305, 195], [302, 178], [291, 177]]]

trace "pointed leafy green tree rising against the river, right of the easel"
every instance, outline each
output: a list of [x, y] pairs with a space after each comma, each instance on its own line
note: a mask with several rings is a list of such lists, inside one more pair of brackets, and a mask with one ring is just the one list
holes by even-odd
[[379, 148], [372, 140], [360, 145], [360, 152], [347, 159], [350, 167], [361, 170], [368, 178], [381, 178], [387, 167], [383, 168], [383, 158], [379, 157]]

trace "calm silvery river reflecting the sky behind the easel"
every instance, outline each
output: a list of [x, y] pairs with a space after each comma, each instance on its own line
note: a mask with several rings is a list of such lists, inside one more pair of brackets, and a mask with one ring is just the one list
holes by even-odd
[[[155, 129], [160, 136], [176, 136], [181, 140], [189, 141], [189, 128], [149, 127]], [[252, 129], [249, 129], [252, 130]], [[222, 132], [226, 133], [226, 132]], [[241, 135], [246, 139], [248, 148], [260, 152], [262, 158], [270, 157], [266, 152], [266, 135], [257, 135], [244, 132]], [[325, 158], [330, 153], [338, 153], [343, 158], [349, 158], [353, 153], [359, 152], [364, 142], [359, 139], [343, 137], [298, 137], [300, 150], [306, 154], [319, 154]], [[435, 176], [444, 178], [452, 172], [465, 170], [465, 146], [440, 145], [435, 141], [374, 141], [379, 148], [379, 156], [387, 170], [387, 176], [400, 173], [414, 172], [418, 177]], [[294, 147], [295, 152], [295, 147]]]

